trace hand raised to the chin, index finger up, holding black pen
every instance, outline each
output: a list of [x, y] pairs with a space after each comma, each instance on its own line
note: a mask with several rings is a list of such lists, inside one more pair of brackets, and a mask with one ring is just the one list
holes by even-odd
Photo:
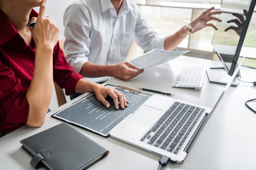
[[33, 39], [36, 43], [44, 47], [54, 48], [59, 38], [59, 28], [51, 22], [51, 17], [45, 17], [47, 0], [42, 0], [38, 17], [32, 17], [32, 21], [36, 21], [34, 27], [29, 27]]

